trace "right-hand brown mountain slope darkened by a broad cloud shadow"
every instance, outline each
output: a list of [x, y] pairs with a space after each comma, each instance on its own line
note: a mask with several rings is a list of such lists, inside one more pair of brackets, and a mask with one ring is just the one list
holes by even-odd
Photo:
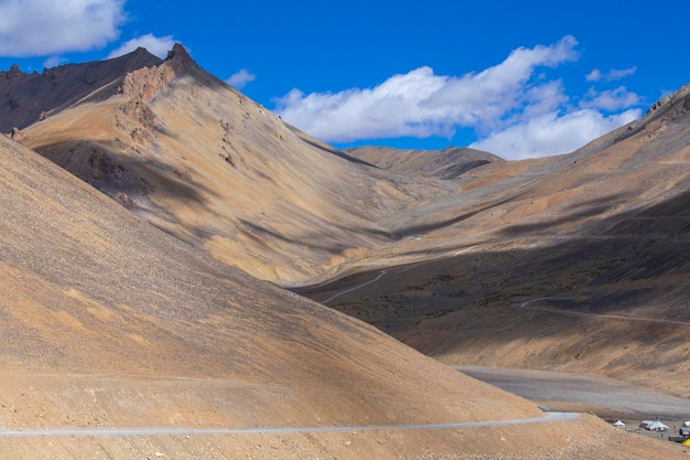
[[[345, 264], [389, 271], [328, 304], [449, 363], [602, 373], [690, 397], [689, 108], [686, 86], [571, 154], [468, 171], [454, 196], [380, 222], [418, 236]], [[516, 308], [536, 299], [526, 307], [671, 322]]]

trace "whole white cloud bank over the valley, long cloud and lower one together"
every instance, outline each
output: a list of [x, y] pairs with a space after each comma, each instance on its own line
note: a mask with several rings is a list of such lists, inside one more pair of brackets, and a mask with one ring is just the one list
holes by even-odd
[[[548, 46], [520, 47], [498, 65], [462, 76], [436, 75], [430, 67], [420, 67], [373, 88], [312, 94], [293, 89], [276, 99], [276, 111], [331, 142], [451, 139], [459, 128], [471, 128], [478, 136], [472, 147], [506, 159], [562, 153], [639, 115], [629, 110], [639, 98], [623, 86], [592, 89], [573, 100], [560, 79], [549, 79], [550, 68], [579, 58], [576, 45], [568, 35]], [[632, 71], [607, 75], [626, 72]]]

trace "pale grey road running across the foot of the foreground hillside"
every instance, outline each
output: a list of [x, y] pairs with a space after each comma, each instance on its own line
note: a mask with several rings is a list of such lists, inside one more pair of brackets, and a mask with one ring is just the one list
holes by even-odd
[[441, 430], [459, 428], [496, 427], [502, 425], [529, 425], [568, 421], [578, 418], [576, 413], [545, 413], [542, 417], [517, 420], [467, 421], [462, 424], [429, 425], [362, 425], [343, 427], [301, 428], [62, 428], [1, 430], [0, 437], [36, 436], [194, 436], [194, 435], [294, 435], [302, 432], [377, 431], [377, 430]]

